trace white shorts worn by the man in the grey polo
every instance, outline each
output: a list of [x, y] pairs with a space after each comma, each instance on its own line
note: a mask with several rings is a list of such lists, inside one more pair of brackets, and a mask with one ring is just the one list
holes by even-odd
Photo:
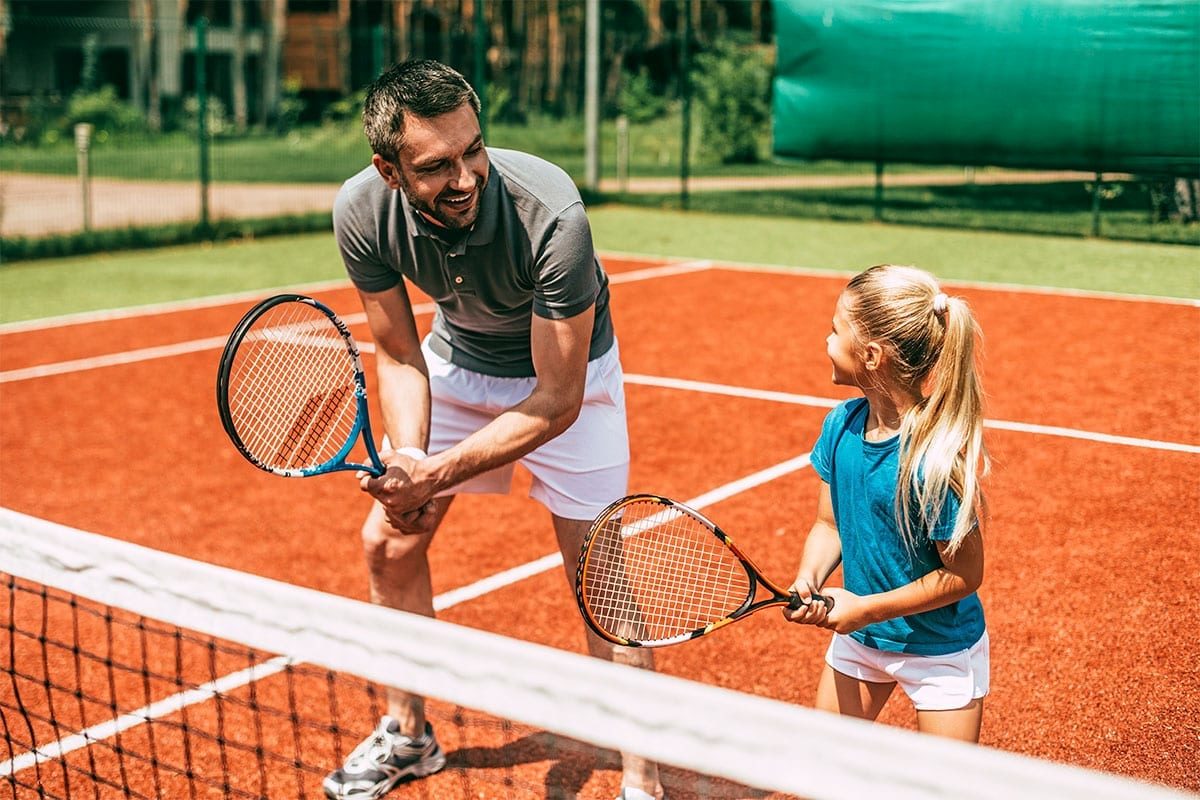
[[[464, 369], [433, 353], [427, 339], [421, 349], [433, 398], [430, 452], [452, 447], [475, 433], [500, 411], [529, 397], [538, 383], [536, 378], [496, 378]], [[533, 474], [529, 497], [559, 517], [593, 519], [628, 494], [629, 431], [616, 341], [607, 353], [588, 362], [578, 419], [520, 463]], [[444, 494], [506, 494], [512, 469], [508, 464], [476, 475]]]

